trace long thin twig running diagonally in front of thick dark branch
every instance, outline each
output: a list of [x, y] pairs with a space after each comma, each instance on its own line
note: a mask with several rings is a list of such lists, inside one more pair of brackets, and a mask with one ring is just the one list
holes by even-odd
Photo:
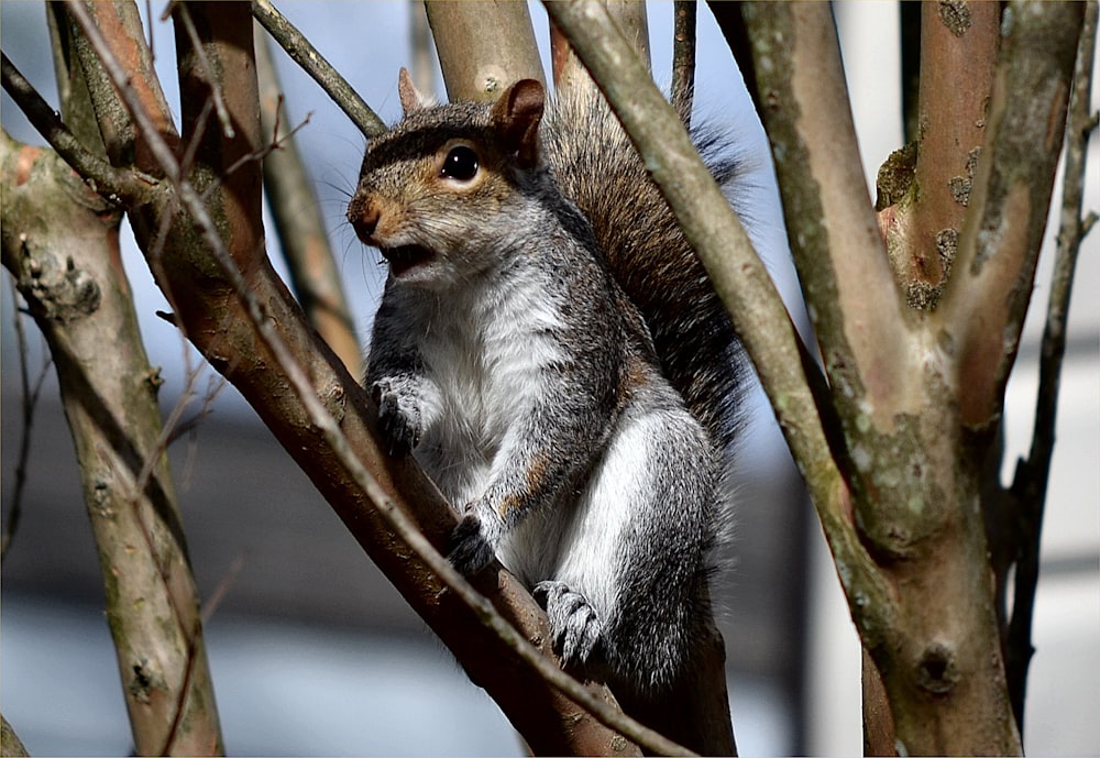
[[176, 158], [167, 143], [164, 142], [158, 133], [148, 129], [152, 124], [151, 119], [144, 112], [142, 103], [133, 97], [124, 70], [122, 70], [121, 66], [114, 59], [110, 47], [99, 33], [99, 30], [91, 23], [85, 9], [79, 3], [69, 0], [68, 8], [87, 35], [89, 43], [96, 50], [105, 70], [111, 77], [112, 81], [114, 81], [121, 97], [131, 110], [135, 122], [148, 141], [150, 151], [169, 178], [179, 202], [197, 226], [202, 240], [208, 245], [210, 254], [234, 289], [241, 305], [244, 306], [249, 319], [252, 321], [265, 345], [271, 350], [279, 367], [285, 372], [294, 392], [306, 409], [310, 422], [321, 432], [337, 460], [340, 461], [344, 470], [355, 480], [356, 484], [359, 484], [364, 494], [371, 499], [378, 514], [386, 520], [395, 535], [408, 545], [416, 556], [439, 576], [440, 581], [479, 616], [484, 626], [499, 636], [524, 661], [534, 667], [547, 682], [585, 707], [602, 724], [620, 732], [627, 738], [654, 752], [663, 755], [694, 755], [685, 747], [676, 745], [632, 718], [625, 716], [617, 708], [600, 701], [575, 679], [543, 657], [496, 611], [487, 598], [474, 590], [466, 579], [436, 550], [435, 546], [416, 528], [413, 520], [400, 508], [396, 507], [377, 480], [375, 480], [355, 455], [348, 438], [341, 431], [339, 422], [324, 407], [306, 372], [294, 360], [290, 350], [279, 337], [275, 323], [264, 316], [263, 307], [250, 290], [241, 271], [233, 264], [232, 256], [226, 249], [218, 229], [207, 212], [198, 191], [191, 186], [188, 178], [182, 174], [180, 167], [176, 163]]

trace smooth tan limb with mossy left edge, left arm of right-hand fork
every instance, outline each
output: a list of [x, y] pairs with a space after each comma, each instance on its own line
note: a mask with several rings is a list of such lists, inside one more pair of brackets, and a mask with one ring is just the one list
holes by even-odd
[[834, 402], [844, 419], [892, 429], [895, 414], [915, 411], [920, 352], [867, 194], [832, 10], [754, 2], [743, 12], [791, 252]]

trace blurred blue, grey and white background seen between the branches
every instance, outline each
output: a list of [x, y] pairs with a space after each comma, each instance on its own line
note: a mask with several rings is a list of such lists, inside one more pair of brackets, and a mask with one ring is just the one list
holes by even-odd
[[[144, 3], [140, 3], [145, 8]], [[283, 12], [387, 122], [399, 117], [397, 69], [409, 62], [406, 2], [280, 2]], [[153, 8], [154, 15], [162, 10]], [[546, 50], [546, 14], [531, 6]], [[838, 4], [848, 86], [868, 180], [901, 144], [898, 3]], [[653, 70], [670, 78], [670, 2], [650, 3]], [[175, 102], [170, 26], [152, 24], [162, 84]], [[0, 2], [4, 53], [56, 102], [41, 2]], [[344, 220], [364, 141], [280, 52], [287, 121], [317, 183], [359, 333], [370, 332], [384, 270]], [[730, 130], [763, 187], [754, 216], [758, 245], [804, 322], [787, 257], [762, 132], [733, 58], [705, 8], [698, 13], [696, 108]], [[442, 86], [438, 86], [442, 98]], [[1093, 83], [1093, 107], [1100, 101]], [[41, 143], [3, 97], [3, 127]], [[1097, 140], [1090, 172], [1100, 165]], [[1057, 204], [1059, 191], [1056, 191]], [[1100, 206], [1087, 185], [1087, 209]], [[1054, 237], [1053, 228], [1048, 238]], [[268, 233], [278, 261], [277, 240]], [[1098, 755], [1100, 726], [1100, 237], [1078, 270], [1063, 377], [1058, 443], [1044, 526], [1025, 747], [1036, 755]], [[1005, 477], [1030, 442], [1037, 345], [1046, 304], [1045, 251], [1007, 400]], [[201, 396], [217, 377], [174, 329], [129, 243], [131, 277], [151, 362], [167, 383], [165, 413], [188, 413], [189, 372]], [[7, 523], [20, 439], [18, 304], [0, 287], [0, 475]], [[0, 708], [33, 755], [128, 755], [129, 725], [95, 545], [68, 430], [28, 323], [29, 370], [45, 370], [31, 428], [23, 514], [3, 563]], [[812, 508], [770, 411], [755, 400], [738, 465], [736, 564], [719, 591], [730, 701], [741, 755], [861, 752], [859, 647]], [[205, 598], [226, 745], [233, 755], [515, 755], [520, 744], [496, 705], [469, 683], [449, 652], [363, 554], [328, 505], [230, 386], [213, 414], [172, 449], [188, 547]]]

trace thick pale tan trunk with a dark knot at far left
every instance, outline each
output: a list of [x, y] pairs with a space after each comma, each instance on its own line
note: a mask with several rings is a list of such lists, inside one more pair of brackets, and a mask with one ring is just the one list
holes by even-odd
[[136, 749], [220, 754], [198, 594], [121, 274], [119, 213], [55, 154], [7, 136], [0, 153], [3, 263], [57, 367]]

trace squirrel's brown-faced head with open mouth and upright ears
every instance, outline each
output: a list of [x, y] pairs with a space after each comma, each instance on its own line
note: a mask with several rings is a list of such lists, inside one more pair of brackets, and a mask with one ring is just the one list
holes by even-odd
[[512, 85], [493, 105], [427, 105], [402, 69], [405, 118], [367, 146], [348, 220], [389, 262], [394, 281], [443, 285], [497, 261], [544, 174], [539, 81]]

